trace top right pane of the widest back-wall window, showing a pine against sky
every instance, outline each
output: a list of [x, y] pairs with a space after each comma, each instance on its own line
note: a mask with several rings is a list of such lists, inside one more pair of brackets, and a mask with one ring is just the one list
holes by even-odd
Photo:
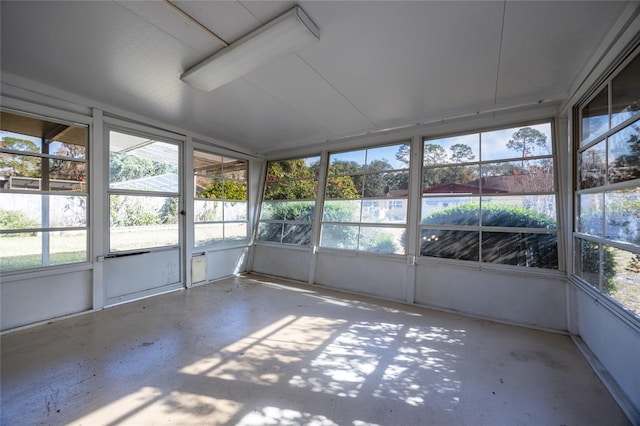
[[482, 161], [551, 156], [551, 124], [501, 129], [481, 134]]

